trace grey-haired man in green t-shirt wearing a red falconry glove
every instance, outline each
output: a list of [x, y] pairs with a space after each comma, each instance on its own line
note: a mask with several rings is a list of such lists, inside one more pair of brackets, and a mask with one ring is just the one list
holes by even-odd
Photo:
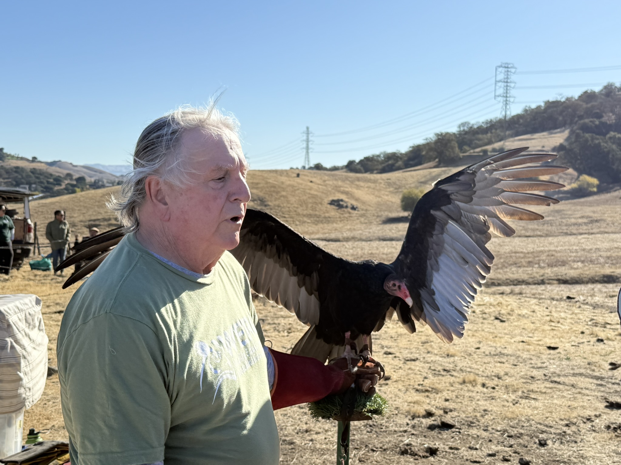
[[344, 392], [345, 359], [268, 350], [239, 242], [250, 190], [237, 121], [183, 108], [145, 128], [129, 229], [58, 335], [73, 465], [278, 464], [273, 409]]

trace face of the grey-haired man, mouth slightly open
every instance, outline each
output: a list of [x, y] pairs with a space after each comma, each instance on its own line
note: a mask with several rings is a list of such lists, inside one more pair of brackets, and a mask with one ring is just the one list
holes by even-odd
[[181, 137], [178, 155], [184, 157], [191, 184], [165, 187], [175, 241], [186, 253], [201, 254], [201, 260], [234, 249], [250, 200], [239, 139], [230, 132], [212, 136], [195, 128]]

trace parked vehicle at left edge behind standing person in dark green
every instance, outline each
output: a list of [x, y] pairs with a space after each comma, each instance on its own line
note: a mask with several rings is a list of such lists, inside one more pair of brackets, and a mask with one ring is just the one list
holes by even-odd
[[[35, 228], [30, 219], [30, 193], [26, 190], [13, 187], [0, 187], [0, 201], [2, 203], [23, 203], [24, 212], [16, 208], [8, 209], [4, 214], [9, 215], [15, 224], [15, 239], [13, 241], [13, 268], [19, 268], [24, 260], [33, 254], [35, 247]], [[7, 205], [8, 207], [8, 205]]]

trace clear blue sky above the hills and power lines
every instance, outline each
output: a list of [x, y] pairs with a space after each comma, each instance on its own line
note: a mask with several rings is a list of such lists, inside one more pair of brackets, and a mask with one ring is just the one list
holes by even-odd
[[[619, 1], [2, 1], [0, 17], [0, 146], [76, 164], [123, 163], [148, 122], [224, 88], [251, 167], [301, 166], [306, 126], [329, 166], [499, 115], [501, 61], [621, 65]], [[519, 112], [621, 69], [514, 78]]]

